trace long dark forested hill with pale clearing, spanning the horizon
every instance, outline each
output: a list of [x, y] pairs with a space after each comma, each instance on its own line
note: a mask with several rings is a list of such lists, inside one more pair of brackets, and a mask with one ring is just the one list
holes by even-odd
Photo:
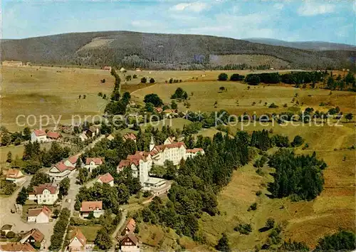
[[[263, 45], [233, 38], [216, 36], [103, 31], [65, 33], [53, 36], [1, 41], [2, 61], [30, 61], [59, 65], [117, 65], [126, 68], [216, 68], [225, 65], [248, 67], [246, 55], [268, 56], [268, 61], [250, 60], [255, 65], [289, 68], [346, 67], [347, 58], [323, 56], [311, 51], [283, 46]], [[232, 60], [220, 61], [224, 56]], [[245, 61], [241, 58], [245, 57]], [[239, 58], [240, 57], [240, 58]], [[260, 57], [261, 58], [261, 57]], [[272, 58], [272, 60], [271, 60]], [[233, 68], [239, 66], [233, 66]]]

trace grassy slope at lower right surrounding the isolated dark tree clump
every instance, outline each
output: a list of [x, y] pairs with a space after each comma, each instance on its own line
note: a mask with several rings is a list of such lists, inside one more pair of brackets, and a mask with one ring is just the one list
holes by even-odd
[[[231, 246], [239, 250], [263, 245], [268, 231], [260, 232], [258, 229], [263, 228], [268, 217], [285, 226], [284, 239], [304, 241], [312, 248], [318, 238], [339, 228], [355, 231], [355, 151], [345, 149], [350, 147], [351, 139], [355, 144], [355, 132], [350, 127], [308, 127], [299, 130], [274, 127], [273, 132], [288, 135], [290, 139], [296, 134], [302, 135], [310, 148], [296, 152], [311, 154], [315, 150], [317, 157], [325, 160], [328, 168], [324, 172], [323, 192], [313, 201], [270, 199], [266, 196], [269, 194], [266, 184], [273, 181], [269, 174], [273, 169], [265, 166], [265, 175], [259, 176], [251, 164], [241, 167], [218, 196], [221, 216], [204, 214], [200, 221], [211, 246], [216, 244], [221, 232], [228, 233]], [[256, 196], [258, 190], [263, 192], [261, 196]], [[258, 209], [246, 211], [255, 201]], [[246, 236], [234, 231], [240, 223], [251, 224], [252, 233]]]

